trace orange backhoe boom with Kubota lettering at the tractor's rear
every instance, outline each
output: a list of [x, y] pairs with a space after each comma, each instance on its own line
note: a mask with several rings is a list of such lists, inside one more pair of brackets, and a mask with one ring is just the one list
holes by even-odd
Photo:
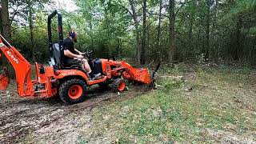
[[6, 58], [9, 60], [11, 65], [14, 67], [18, 95], [25, 97], [26, 95], [33, 95], [33, 84], [31, 81], [31, 68], [30, 63], [26, 61], [26, 58], [22, 56], [15, 49], [14, 46], [11, 46], [9, 42], [0, 34], [0, 50], [6, 55]]

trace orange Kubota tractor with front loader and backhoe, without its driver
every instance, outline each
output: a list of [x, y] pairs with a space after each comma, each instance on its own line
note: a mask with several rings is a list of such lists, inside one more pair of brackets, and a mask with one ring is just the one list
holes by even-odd
[[[59, 42], [53, 44], [51, 34], [51, 20], [58, 17]], [[90, 81], [86, 72], [80, 66], [65, 66], [62, 62], [63, 34], [62, 34], [62, 14], [55, 10], [48, 17], [48, 38], [50, 62], [49, 66], [43, 66], [35, 62], [36, 79], [31, 79], [30, 63], [14, 48], [5, 38], [0, 35], [0, 50], [6, 55], [14, 67], [17, 81], [17, 90], [20, 97], [26, 98], [51, 98], [59, 95], [63, 102], [75, 104], [86, 99], [86, 86], [98, 84], [107, 86], [113, 84], [117, 90], [123, 91], [126, 88], [124, 79], [150, 84], [154, 82], [150, 78], [149, 70], [138, 69], [130, 66], [124, 61], [115, 61], [115, 58], [95, 59], [90, 58], [90, 66], [95, 74], [101, 73], [98, 80]], [[0, 75], [0, 90], [5, 90], [9, 84], [6, 72]]]

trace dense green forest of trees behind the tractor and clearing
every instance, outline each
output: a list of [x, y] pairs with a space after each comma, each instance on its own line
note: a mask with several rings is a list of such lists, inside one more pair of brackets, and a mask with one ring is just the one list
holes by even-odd
[[[256, 65], [256, 0], [76, 0], [60, 10], [78, 49], [138, 64], [241, 62]], [[30, 61], [46, 62], [52, 0], [1, 0], [1, 34]], [[54, 38], [58, 42], [58, 26]]]

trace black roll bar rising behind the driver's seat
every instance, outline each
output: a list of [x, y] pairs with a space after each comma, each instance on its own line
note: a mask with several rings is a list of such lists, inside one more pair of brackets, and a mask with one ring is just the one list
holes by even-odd
[[59, 37], [59, 47], [62, 50], [63, 47], [63, 31], [62, 31], [62, 14], [58, 12], [58, 10], [54, 10], [52, 14], [48, 17], [47, 27], [48, 27], [48, 49], [50, 54], [53, 52], [53, 42], [52, 42], [52, 34], [51, 34], [51, 19], [54, 18], [55, 15], [58, 15], [58, 37]]

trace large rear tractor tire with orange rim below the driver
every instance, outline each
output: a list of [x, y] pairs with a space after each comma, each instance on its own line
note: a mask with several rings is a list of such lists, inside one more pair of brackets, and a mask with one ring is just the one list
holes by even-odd
[[73, 78], [62, 82], [59, 87], [59, 98], [70, 105], [86, 100], [86, 83], [81, 79]]

